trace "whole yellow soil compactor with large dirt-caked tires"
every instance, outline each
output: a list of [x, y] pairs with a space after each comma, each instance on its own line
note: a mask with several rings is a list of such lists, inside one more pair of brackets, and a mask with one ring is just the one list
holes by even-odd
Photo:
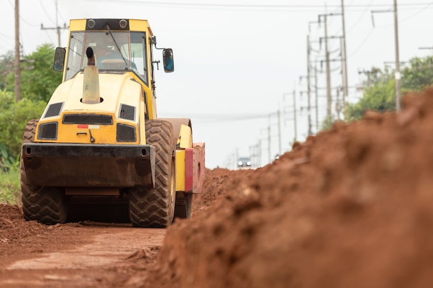
[[[190, 218], [201, 192], [204, 143], [190, 119], [156, 115], [154, 49], [165, 72], [173, 51], [156, 48], [138, 19], [74, 19], [67, 48], [56, 48], [63, 80], [40, 119], [30, 120], [21, 150], [24, 218], [64, 223], [73, 205], [126, 207], [133, 227], [167, 227]], [[156, 66], [156, 67], [155, 67]]]

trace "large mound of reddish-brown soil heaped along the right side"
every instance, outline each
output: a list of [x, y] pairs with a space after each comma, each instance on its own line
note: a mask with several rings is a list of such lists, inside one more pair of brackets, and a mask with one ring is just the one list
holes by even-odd
[[295, 143], [262, 169], [206, 171], [149, 287], [433, 285], [433, 90], [400, 113]]

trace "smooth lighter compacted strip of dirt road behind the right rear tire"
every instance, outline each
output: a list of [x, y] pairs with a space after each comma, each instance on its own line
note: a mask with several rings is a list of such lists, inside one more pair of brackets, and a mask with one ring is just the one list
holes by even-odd
[[[166, 229], [76, 227], [91, 242], [33, 254], [0, 271], [0, 287], [139, 286], [153, 264]], [[140, 278], [134, 277], [140, 271]]]

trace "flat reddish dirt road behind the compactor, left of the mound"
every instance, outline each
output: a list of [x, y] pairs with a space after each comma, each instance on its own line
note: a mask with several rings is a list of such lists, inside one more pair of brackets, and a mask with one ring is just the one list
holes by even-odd
[[166, 233], [95, 222], [46, 227], [22, 221], [19, 207], [0, 211], [0, 287], [140, 287]]

